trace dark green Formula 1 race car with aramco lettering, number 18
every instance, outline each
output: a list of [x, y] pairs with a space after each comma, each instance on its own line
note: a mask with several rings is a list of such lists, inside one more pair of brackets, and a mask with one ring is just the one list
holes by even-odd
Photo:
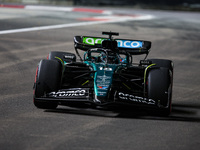
[[[169, 115], [172, 103], [173, 63], [146, 59], [151, 42], [109, 37], [75, 36], [76, 55], [50, 52], [40, 61], [34, 82], [34, 105], [70, 107], [133, 106]], [[81, 57], [78, 50], [84, 51]], [[139, 63], [132, 56], [145, 54]], [[77, 61], [76, 57], [80, 60]]]

